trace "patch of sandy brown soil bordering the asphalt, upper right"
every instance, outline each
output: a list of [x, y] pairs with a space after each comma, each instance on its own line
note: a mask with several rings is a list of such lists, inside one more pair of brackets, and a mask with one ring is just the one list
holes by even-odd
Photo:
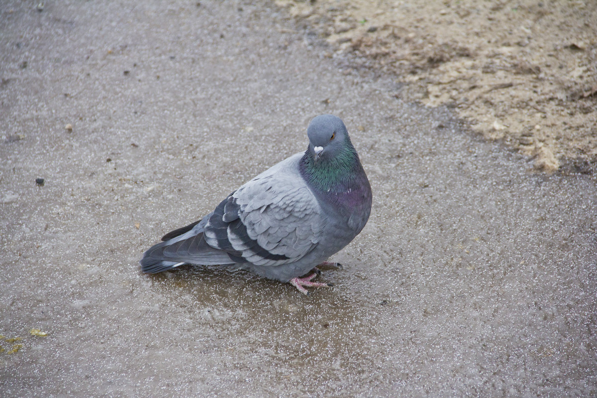
[[[446, 104], [545, 171], [597, 163], [597, 2], [278, 0], [399, 96]], [[364, 57], [362, 57], [364, 56]]]

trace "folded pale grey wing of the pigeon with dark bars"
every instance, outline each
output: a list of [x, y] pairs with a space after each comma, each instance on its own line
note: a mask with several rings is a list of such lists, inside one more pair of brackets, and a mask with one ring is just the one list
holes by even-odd
[[269, 170], [217, 206], [205, 224], [204, 238], [208, 245], [229, 252], [233, 261], [291, 263], [319, 242], [320, 211], [296, 168]]

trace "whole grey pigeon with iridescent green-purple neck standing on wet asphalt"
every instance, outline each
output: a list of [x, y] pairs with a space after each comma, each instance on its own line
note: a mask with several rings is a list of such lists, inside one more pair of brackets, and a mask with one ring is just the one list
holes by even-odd
[[143, 255], [141, 270], [219, 264], [290, 282], [304, 294], [305, 286], [331, 286], [311, 281], [319, 271], [315, 266], [334, 264], [325, 260], [361, 232], [371, 212], [371, 186], [340, 118], [317, 116], [307, 137], [304, 153], [257, 175], [201, 220], [162, 237]]

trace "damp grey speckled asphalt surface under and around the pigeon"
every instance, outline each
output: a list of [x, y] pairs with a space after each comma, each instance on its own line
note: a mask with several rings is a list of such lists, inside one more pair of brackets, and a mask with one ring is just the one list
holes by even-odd
[[[534, 174], [269, 2], [37, 4], [0, 4], [0, 396], [597, 394], [595, 177]], [[140, 273], [321, 113], [374, 193], [333, 288]]]

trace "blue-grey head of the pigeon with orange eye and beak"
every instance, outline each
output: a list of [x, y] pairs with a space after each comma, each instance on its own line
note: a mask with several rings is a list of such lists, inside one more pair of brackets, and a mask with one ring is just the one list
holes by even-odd
[[316, 116], [307, 127], [309, 152], [316, 162], [336, 158], [347, 146], [352, 147], [346, 126], [333, 115]]

